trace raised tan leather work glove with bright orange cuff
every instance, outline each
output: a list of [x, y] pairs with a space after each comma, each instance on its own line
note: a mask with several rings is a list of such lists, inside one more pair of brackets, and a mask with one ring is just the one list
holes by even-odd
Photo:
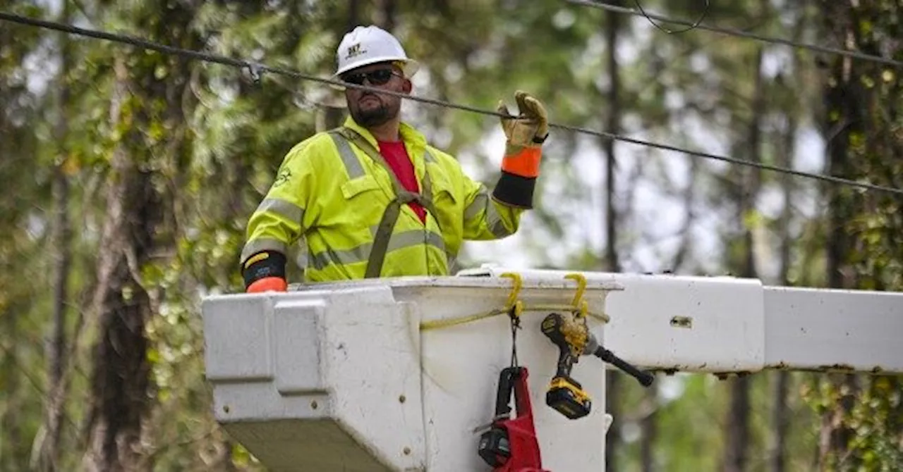
[[[549, 134], [548, 116], [542, 102], [525, 91], [517, 90], [514, 97], [519, 114], [501, 118], [502, 129], [507, 137], [502, 171], [533, 179], [539, 175], [541, 148]], [[500, 100], [497, 111], [511, 115]]]

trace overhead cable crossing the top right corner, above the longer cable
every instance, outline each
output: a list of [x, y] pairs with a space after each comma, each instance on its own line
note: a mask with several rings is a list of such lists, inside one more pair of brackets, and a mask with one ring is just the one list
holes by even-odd
[[696, 23], [689, 22], [687, 20], [678, 20], [676, 18], [669, 18], [667, 16], [661, 14], [650, 14], [646, 11], [642, 11], [639, 9], [628, 8], [626, 6], [619, 5], [610, 5], [602, 2], [593, 2], [591, 0], [564, 0], [565, 2], [572, 5], [581, 5], [581, 6], [589, 6], [591, 8], [598, 8], [600, 10], [606, 10], [613, 13], [619, 14], [632, 14], [635, 16], [642, 16], [647, 19], [656, 20], [662, 23], [674, 23], [680, 24], [687, 27], [692, 27], [694, 30], [705, 30], [710, 32], [720, 32], [721, 34], [727, 34], [730, 36], [737, 36], [740, 38], [747, 38], [750, 40], [758, 41], [758, 42], [768, 42], [771, 44], [782, 44], [784, 46], [789, 46], [797, 49], [804, 49], [815, 52], [824, 52], [825, 54], [836, 54], [839, 56], [845, 56], [848, 58], [860, 59], [860, 60], [870, 60], [872, 62], [880, 62], [881, 64], [887, 64], [889, 66], [894, 66], [896, 68], [903, 69], [903, 60], [893, 60], [889, 58], [882, 58], [880, 56], [875, 56], [873, 54], [866, 54], [864, 52], [859, 51], [848, 51], [839, 48], [831, 48], [827, 46], [818, 46], [816, 44], [808, 44], [805, 42], [796, 42], [791, 40], [786, 40], [783, 38], [774, 38], [771, 36], [764, 36], [761, 34], [756, 34], [754, 32], [745, 32], [742, 30], [737, 30], [733, 28], [722, 28], [721, 26], [711, 26], [704, 23]]

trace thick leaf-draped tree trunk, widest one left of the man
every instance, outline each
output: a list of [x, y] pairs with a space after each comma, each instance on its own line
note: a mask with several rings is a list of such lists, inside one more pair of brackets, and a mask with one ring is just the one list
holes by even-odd
[[[154, 2], [136, 10], [132, 20], [153, 40], [198, 49], [192, 8]], [[165, 264], [163, 255], [173, 252], [179, 236], [172, 207], [179, 184], [173, 180], [185, 171], [191, 150], [184, 120], [193, 102], [185, 90], [194, 62], [140, 50], [128, 54], [117, 53], [113, 60], [110, 122], [123, 133], [110, 161], [92, 298], [98, 341], [83, 460], [89, 472], [140, 472], [154, 466], [144, 440], [149, 432], [144, 420], [155, 401], [145, 326], [162, 294], [144, 283], [143, 271], [152, 262]], [[159, 67], [167, 69], [165, 77], [154, 74]], [[165, 136], [155, 137], [154, 129], [166, 130]]]

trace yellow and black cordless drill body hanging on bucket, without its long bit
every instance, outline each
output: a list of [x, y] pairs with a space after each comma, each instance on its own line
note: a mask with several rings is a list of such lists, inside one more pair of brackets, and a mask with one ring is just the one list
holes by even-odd
[[550, 313], [543, 319], [541, 329], [559, 350], [557, 371], [549, 384], [549, 391], [545, 393], [545, 404], [571, 420], [590, 414], [590, 395], [571, 377], [571, 369], [578, 362], [589, 338], [585, 320]]

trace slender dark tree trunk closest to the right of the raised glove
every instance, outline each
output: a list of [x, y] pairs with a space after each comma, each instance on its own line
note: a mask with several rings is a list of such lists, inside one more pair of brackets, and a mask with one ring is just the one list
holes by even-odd
[[[616, 2], [618, 3], [618, 2]], [[606, 60], [608, 62], [610, 86], [608, 90], [609, 113], [606, 117], [607, 131], [618, 133], [620, 123], [620, 81], [618, 65], [618, 29], [620, 17], [618, 14], [606, 14], [606, 40], [608, 48]], [[618, 215], [615, 212], [615, 150], [614, 141], [605, 139], [602, 141], [605, 150], [605, 264], [603, 270], [619, 272], [620, 262], [618, 258]], [[614, 472], [619, 470], [617, 453], [620, 445], [620, 415], [619, 403], [621, 382], [620, 373], [612, 367], [606, 369], [605, 395], [606, 408], [613, 421], [608, 434], [605, 436], [605, 470]]]

